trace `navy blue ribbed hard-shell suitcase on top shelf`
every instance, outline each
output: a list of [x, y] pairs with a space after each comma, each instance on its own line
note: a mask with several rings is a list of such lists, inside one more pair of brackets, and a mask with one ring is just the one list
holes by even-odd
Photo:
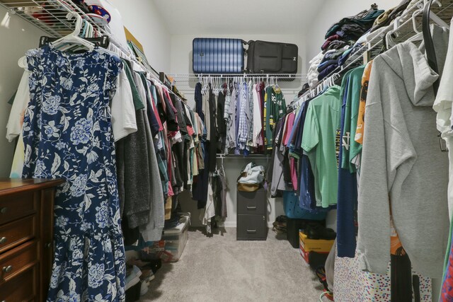
[[195, 74], [241, 74], [244, 71], [243, 40], [196, 37], [193, 39]]

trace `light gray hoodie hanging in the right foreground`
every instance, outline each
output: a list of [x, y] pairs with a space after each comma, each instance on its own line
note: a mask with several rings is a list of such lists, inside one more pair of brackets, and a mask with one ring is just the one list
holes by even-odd
[[411, 42], [374, 59], [365, 110], [357, 240], [361, 268], [370, 272], [386, 273], [391, 212], [413, 269], [425, 277], [442, 277], [449, 232], [448, 154], [440, 151], [432, 110], [437, 77]]

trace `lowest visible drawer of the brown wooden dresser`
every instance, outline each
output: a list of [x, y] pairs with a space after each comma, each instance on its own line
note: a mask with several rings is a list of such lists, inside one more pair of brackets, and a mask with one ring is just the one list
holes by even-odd
[[0, 283], [0, 301], [23, 302], [38, 301], [36, 282], [38, 266], [32, 267], [5, 283]]

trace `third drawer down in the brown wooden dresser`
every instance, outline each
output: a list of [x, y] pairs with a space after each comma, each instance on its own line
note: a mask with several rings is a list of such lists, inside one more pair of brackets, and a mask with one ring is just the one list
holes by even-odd
[[33, 240], [0, 255], [0, 284], [38, 262], [38, 241]]

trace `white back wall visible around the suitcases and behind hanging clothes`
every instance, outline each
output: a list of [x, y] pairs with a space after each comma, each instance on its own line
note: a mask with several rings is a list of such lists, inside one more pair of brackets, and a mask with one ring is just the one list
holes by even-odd
[[[299, 47], [299, 69], [298, 73], [302, 73], [302, 70], [305, 70], [306, 64], [306, 50], [304, 44], [304, 38], [302, 33], [300, 35], [203, 35], [202, 33], [194, 33], [194, 35], [172, 35], [171, 37], [171, 74], [192, 74], [192, 40], [195, 37], [234, 37], [237, 39], [242, 39], [245, 41], [248, 40], [265, 40], [273, 42], [287, 42], [298, 45]], [[305, 79], [304, 79], [305, 80]], [[179, 81], [176, 78], [176, 86], [179, 91], [182, 91], [185, 94], [185, 97], [188, 98], [188, 104], [192, 107], [195, 106], [195, 101], [193, 98], [193, 93], [195, 90], [195, 84], [197, 81], [194, 79], [190, 81]], [[287, 103], [292, 101], [292, 98], [297, 94], [302, 86], [301, 79], [296, 79], [293, 82], [279, 82], [279, 86], [282, 88], [283, 93]], [[225, 221], [225, 226], [235, 227], [236, 226], [236, 179], [241, 173], [241, 168], [249, 163], [250, 161], [255, 161], [258, 165], [267, 165], [266, 160], [263, 159], [225, 159], [224, 167], [226, 178], [229, 181], [229, 191], [226, 194], [227, 200], [227, 209], [228, 209], [228, 218]], [[217, 164], [220, 165], [220, 161], [217, 161]], [[197, 203], [193, 202], [190, 199], [188, 194], [183, 194], [180, 196], [180, 202], [183, 207], [183, 210], [190, 211], [193, 214], [193, 224], [199, 226], [200, 220], [198, 216], [200, 211], [197, 210]], [[269, 226], [275, 221], [275, 217], [278, 215], [284, 215], [283, 211], [283, 202], [281, 198], [277, 199], [268, 199], [268, 224]]]

